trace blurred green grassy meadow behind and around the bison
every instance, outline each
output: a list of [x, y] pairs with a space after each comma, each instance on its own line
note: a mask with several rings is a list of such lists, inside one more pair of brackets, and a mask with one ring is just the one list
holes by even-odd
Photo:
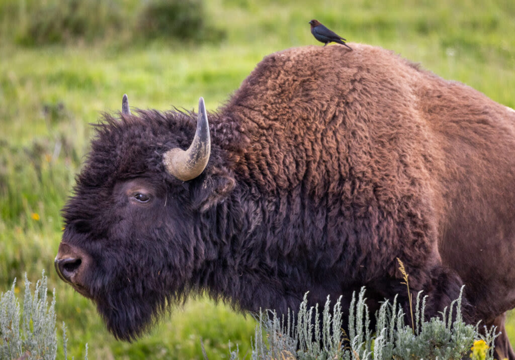
[[[115, 341], [93, 304], [59, 281], [60, 209], [102, 111], [208, 109], [267, 54], [316, 44], [317, 19], [350, 42], [400, 53], [515, 107], [515, 2], [455, 0], [2, 0], [0, 2], [0, 291], [41, 270], [57, 290], [57, 323], [80, 358], [228, 356], [249, 350], [254, 322], [207, 298], [188, 301], [149, 335]], [[21, 284], [21, 281], [18, 281]], [[508, 333], [515, 342], [515, 317]], [[58, 355], [59, 358], [59, 355]]]

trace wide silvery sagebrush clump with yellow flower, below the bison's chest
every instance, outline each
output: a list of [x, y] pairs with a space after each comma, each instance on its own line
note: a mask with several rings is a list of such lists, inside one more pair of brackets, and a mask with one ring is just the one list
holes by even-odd
[[[322, 313], [318, 306], [308, 308], [304, 296], [297, 315], [279, 318], [273, 311], [260, 312], [252, 344], [252, 359], [493, 359], [495, 328], [479, 332], [461, 316], [461, 296], [445, 308], [440, 317], [424, 319], [426, 296], [419, 292], [415, 304], [415, 325], [406, 325], [405, 314], [397, 302], [385, 300], [375, 313], [375, 331], [370, 329], [365, 287], [349, 308], [348, 334], [342, 330], [339, 298], [331, 309], [328, 296]], [[320, 319], [321, 321], [314, 321]], [[231, 359], [239, 351], [230, 352]]]

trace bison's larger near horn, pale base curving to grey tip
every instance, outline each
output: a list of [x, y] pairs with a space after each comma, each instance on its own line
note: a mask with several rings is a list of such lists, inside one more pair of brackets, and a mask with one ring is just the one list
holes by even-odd
[[197, 131], [188, 150], [174, 148], [163, 156], [166, 170], [182, 181], [194, 179], [208, 165], [211, 153], [208, 114], [205, 112], [204, 99], [198, 100]]

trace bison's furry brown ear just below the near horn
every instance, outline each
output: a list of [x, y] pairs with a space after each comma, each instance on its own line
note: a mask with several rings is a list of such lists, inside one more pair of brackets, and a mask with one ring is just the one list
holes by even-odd
[[194, 206], [204, 212], [224, 202], [236, 185], [232, 174], [226, 168], [215, 168], [205, 174], [194, 190]]

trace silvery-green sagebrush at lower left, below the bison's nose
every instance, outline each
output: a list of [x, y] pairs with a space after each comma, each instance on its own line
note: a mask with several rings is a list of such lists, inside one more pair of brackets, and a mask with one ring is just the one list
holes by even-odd
[[[48, 299], [47, 277], [43, 271], [32, 294], [25, 274], [23, 307], [16, 297], [16, 280], [0, 296], [0, 359], [54, 360], [57, 355], [56, 294]], [[67, 359], [66, 328], [63, 323], [64, 359]], [[85, 349], [88, 358], [88, 346]]]

